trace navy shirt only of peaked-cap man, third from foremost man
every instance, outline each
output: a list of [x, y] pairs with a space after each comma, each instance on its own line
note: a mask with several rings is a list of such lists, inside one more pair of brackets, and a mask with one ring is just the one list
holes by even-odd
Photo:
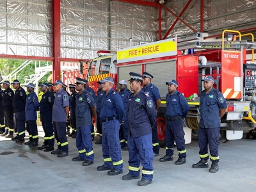
[[91, 108], [95, 107], [96, 103], [92, 95], [86, 90], [83, 90], [81, 95], [76, 97], [76, 126], [84, 127], [92, 125]]

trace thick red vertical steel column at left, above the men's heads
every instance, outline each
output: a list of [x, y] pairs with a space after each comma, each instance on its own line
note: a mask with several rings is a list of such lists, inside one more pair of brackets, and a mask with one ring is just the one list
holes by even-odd
[[52, 83], [61, 79], [60, 74], [60, 0], [52, 1]]

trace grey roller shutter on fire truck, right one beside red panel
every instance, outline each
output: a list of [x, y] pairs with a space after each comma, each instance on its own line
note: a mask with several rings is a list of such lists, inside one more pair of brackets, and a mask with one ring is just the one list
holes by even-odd
[[164, 61], [159, 63], [148, 63], [145, 65], [145, 72], [152, 74], [152, 84], [155, 84], [161, 95], [161, 99], [165, 100], [168, 93], [167, 81], [175, 79], [175, 60]]

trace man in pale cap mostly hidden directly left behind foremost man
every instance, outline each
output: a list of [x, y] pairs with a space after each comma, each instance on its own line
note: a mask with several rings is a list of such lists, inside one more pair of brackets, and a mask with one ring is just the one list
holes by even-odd
[[127, 141], [128, 141], [128, 123], [127, 123], [127, 104], [128, 96], [131, 94], [131, 91], [127, 88], [127, 81], [121, 80], [119, 83], [119, 95], [122, 98], [124, 104], [124, 118], [120, 125], [119, 139], [122, 150], [127, 151]]

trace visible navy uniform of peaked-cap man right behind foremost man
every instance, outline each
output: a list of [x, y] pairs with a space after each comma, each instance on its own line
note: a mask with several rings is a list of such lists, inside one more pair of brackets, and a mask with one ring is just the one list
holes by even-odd
[[[148, 86], [143, 86], [142, 88], [143, 92], [146, 92], [150, 95], [154, 102], [154, 107], [156, 108], [156, 100], [161, 99], [160, 93], [158, 88], [152, 84], [149, 83]], [[155, 154], [159, 154], [159, 140], [157, 136], [157, 124], [152, 128], [152, 145], [153, 145], [153, 151]]]

